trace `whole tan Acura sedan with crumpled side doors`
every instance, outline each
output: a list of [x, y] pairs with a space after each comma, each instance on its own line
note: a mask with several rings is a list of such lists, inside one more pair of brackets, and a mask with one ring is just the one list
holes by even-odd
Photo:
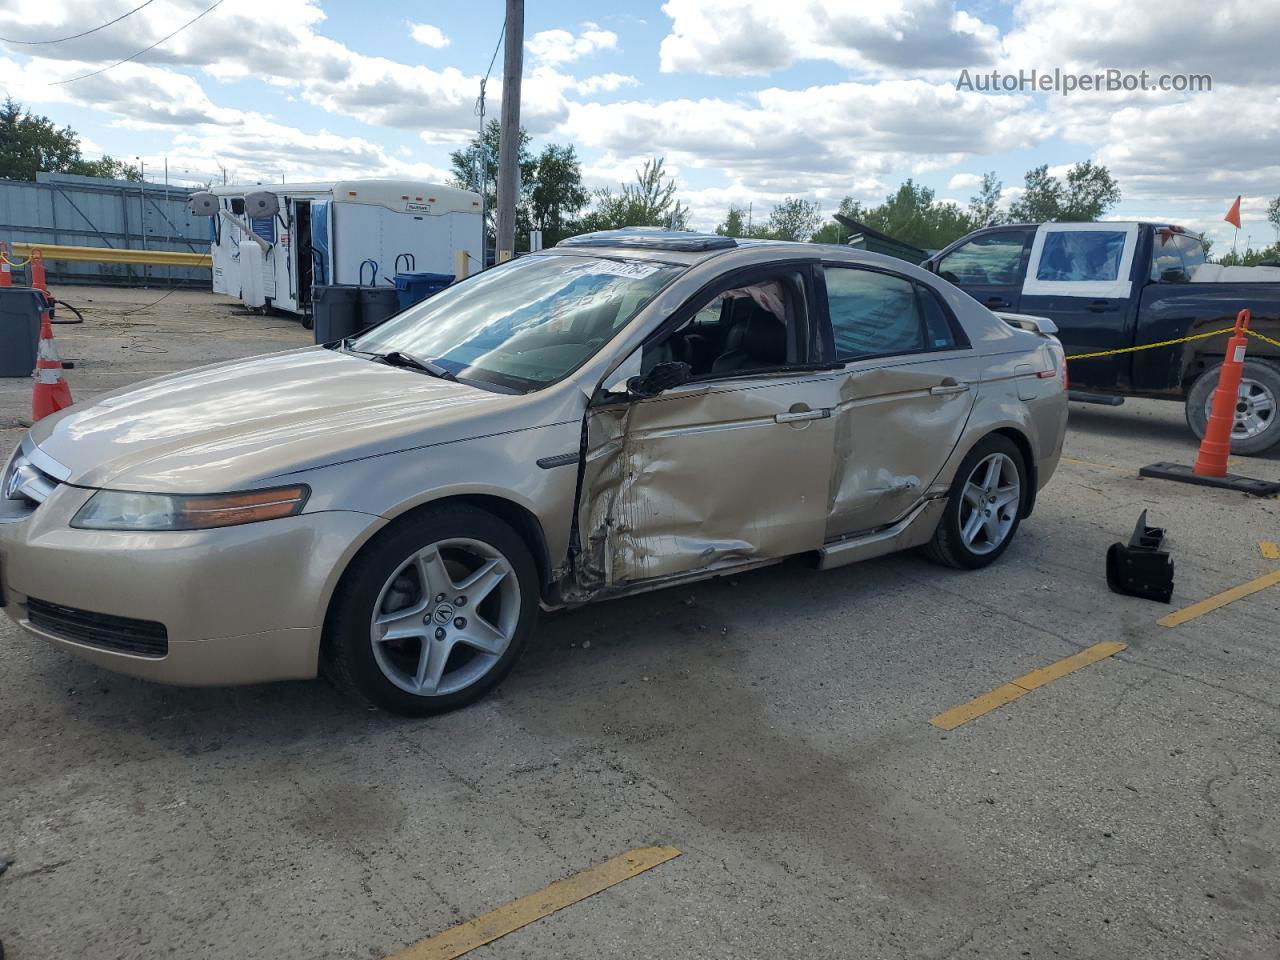
[[0, 486], [0, 599], [140, 677], [449, 709], [539, 608], [795, 554], [991, 563], [1061, 453], [1051, 334], [847, 248], [573, 238], [42, 420]]

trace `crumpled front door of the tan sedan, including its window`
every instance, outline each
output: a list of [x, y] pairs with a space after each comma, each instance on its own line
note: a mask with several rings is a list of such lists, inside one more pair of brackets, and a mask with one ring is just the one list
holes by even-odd
[[[588, 593], [822, 545], [837, 381], [812, 362], [808, 265], [704, 291], [588, 411], [579, 588]], [[623, 390], [625, 384], [625, 393]]]

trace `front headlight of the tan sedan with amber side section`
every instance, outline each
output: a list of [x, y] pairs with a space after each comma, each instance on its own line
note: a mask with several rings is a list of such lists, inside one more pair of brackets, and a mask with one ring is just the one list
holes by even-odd
[[99, 490], [76, 513], [72, 526], [82, 530], [207, 530], [256, 524], [301, 513], [310, 493], [302, 485], [198, 495]]

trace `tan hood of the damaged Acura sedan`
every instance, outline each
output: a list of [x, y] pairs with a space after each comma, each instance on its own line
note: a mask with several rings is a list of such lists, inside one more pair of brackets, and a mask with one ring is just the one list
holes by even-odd
[[224, 493], [465, 439], [477, 417], [522, 399], [307, 347], [148, 380], [46, 417], [31, 436], [70, 484]]

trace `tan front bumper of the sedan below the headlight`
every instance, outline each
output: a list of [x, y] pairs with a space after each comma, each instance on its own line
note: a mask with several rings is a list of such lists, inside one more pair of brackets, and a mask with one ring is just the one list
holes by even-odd
[[[0, 522], [4, 612], [23, 630], [99, 666], [183, 686], [314, 677], [329, 598], [385, 521], [326, 511], [183, 532], [76, 530], [92, 490], [60, 485]], [[163, 655], [110, 649], [32, 623], [28, 599], [164, 625]]]

